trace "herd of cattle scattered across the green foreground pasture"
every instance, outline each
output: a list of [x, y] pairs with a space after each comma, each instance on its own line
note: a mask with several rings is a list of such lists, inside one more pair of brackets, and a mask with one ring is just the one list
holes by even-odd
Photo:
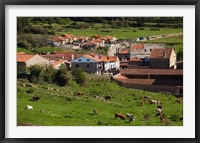
[[[76, 96], [83, 96], [84, 93], [77, 92], [75, 95]], [[104, 98], [105, 98], [105, 100], [111, 100], [111, 96], [110, 95], [105, 96]], [[39, 99], [40, 99], [40, 97], [37, 96], [37, 95], [32, 97], [32, 101], [34, 101], [34, 102], [38, 101]], [[177, 98], [175, 100], [175, 102], [180, 104], [182, 102], [182, 99]], [[162, 102], [160, 100], [153, 100], [153, 99], [151, 99], [151, 96], [144, 96], [143, 100], [140, 102], [139, 105], [140, 106], [144, 106], [145, 104], [155, 104], [155, 105], [157, 105], [157, 108], [155, 109], [155, 116], [156, 117], [160, 117], [160, 123], [163, 123], [164, 121], [170, 122], [170, 120], [167, 118], [167, 116], [163, 112], [163, 104], [162, 104]], [[26, 109], [31, 110], [31, 109], [33, 109], [33, 106], [27, 105]], [[99, 115], [99, 111], [97, 109], [94, 109], [93, 110], [93, 115]], [[135, 121], [135, 115], [132, 115], [130, 113], [126, 113], [126, 115], [124, 115], [122, 113], [115, 113], [114, 114], [114, 118], [115, 119], [121, 119], [121, 120], [126, 120], [127, 119], [129, 122], [134, 122]], [[144, 115], [144, 119], [148, 120], [149, 119], [149, 115]], [[182, 120], [183, 120], [183, 117], [181, 117], [179, 119], [179, 121], [182, 121]]]

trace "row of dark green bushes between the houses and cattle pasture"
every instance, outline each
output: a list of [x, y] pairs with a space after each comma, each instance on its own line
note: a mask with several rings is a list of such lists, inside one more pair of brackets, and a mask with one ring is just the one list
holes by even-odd
[[[20, 71], [18, 72], [21, 74]], [[84, 86], [86, 83], [86, 73], [79, 68], [71, 72], [65, 66], [61, 66], [61, 68], [57, 70], [49, 66], [33, 65], [26, 69], [25, 74], [27, 76], [18, 76], [18, 78], [28, 79], [29, 82], [32, 83], [47, 82], [59, 86], [69, 85], [70, 81], [75, 81], [81, 86]]]

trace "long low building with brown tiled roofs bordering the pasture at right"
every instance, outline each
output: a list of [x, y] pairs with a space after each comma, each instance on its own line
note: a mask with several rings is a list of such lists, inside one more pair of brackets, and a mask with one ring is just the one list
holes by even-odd
[[114, 80], [127, 88], [183, 95], [183, 70], [121, 69]]

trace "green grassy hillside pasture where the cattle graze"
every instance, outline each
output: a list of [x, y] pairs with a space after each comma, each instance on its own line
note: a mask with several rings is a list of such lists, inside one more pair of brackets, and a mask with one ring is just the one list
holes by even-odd
[[[80, 87], [76, 83], [59, 87], [52, 84], [40, 83], [30, 85], [27, 81], [18, 80], [17, 85], [17, 124], [38, 126], [182, 126], [179, 119], [183, 115], [183, 104], [176, 103], [176, 97], [161, 93], [151, 93], [141, 90], [127, 89], [115, 82], [95, 81]], [[77, 96], [78, 92], [84, 93]], [[37, 95], [40, 100], [33, 102]], [[105, 96], [111, 96], [106, 101]], [[156, 117], [154, 104], [146, 103], [140, 106], [144, 96], [160, 100], [168, 120], [160, 123]], [[26, 105], [33, 106], [27, 110]], [[99, 114], [94, 115], [93, 110]], [[131, 113], [135, 115], [134, 122], [126, 119], [115, 119], [115, 113]], [[144, 118], [148, 116], [149, 119]]]

